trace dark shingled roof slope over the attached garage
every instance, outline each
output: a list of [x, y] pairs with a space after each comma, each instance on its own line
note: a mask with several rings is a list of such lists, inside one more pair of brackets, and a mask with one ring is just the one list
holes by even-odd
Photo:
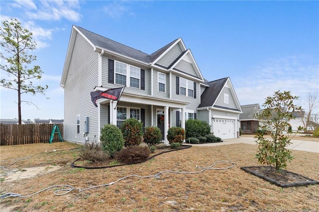
[[200, 105], [198, 107], [213, 106], [228, 78], [229, 77], [209, 82], [209, 87], [205, 89], [200, 97]]

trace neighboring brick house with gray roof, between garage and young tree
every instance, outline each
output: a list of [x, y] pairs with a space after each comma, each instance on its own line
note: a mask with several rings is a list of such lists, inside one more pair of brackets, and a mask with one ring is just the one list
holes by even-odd
[[260, 105], [244, 105], [241, 106], [243, 113], [239, 115], [240, 128], [243, 134], [256, 133], [258, 129], [259, 120], [255, 117], [260, 114]]

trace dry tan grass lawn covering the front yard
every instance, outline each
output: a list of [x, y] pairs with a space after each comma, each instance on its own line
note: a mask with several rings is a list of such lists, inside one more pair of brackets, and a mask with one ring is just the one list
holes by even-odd
[[[30, 195], [54, 185], [69, 185], [73, 191], [55, 196], [57, 188], [25, 198], [0, 200], [0, 211], [316, 211], [319, 208], [319, 186], [280, 188], [241, 170], [258, 166], [256, 145], [229, 144], [191, 147], [161, 154], [140, 164], [107, 169], [72, 169], [78, 158], [78, 146], [67, 142], [0, 146], [1, 161], [31, 156], [10, 169], [36, 166], [60, 166], [60, 169], [18, 181], [0, 181], [0, 194]], [[53, 150], [56, 150], [55, 152]], [[47, 151], [47, 152], [46, 152]], [[292, 150], [294, 159], [288, 171], [319, 180], [318, 153]], [[162, 173], [164, 170], [197, 172], [197, 166], [208, 167], [216, 161], [232, 161], [236, 166], [227, 170], [206, 170], [198, 174]], [[2, 163], [1, 163], [2, 165]], [[218, 164], [222, 168], [228, 164]], [[109, 186], [103, 186], [114, 182]], [[85, 188], [93, 189], [83, 190]], [[81, 192], [77, 190], [81, 189]]]

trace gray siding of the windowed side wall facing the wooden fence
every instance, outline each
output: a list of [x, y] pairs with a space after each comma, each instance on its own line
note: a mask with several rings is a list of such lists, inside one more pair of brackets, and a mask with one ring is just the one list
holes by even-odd
[[[89, 117], [89, 141], [98, 135], [98, 108], [90, 92], [98, 83], [98, 53], [79, 34], [76, 35], [64, 87], [64, 139], [84, 143], [84, 120]], [[80, 115], [80, 134], [77, 134]]]

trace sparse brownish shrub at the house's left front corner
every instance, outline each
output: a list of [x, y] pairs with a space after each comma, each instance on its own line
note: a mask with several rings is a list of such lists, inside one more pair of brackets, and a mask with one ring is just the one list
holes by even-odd
[[108, 155], [102, 151], [100, 143], [97, 142], [85, 143], [84, 146], [80, 148], [79, 156], [83, 160], [90, 160], [93, 162], [104, 161], [108, 157]]

